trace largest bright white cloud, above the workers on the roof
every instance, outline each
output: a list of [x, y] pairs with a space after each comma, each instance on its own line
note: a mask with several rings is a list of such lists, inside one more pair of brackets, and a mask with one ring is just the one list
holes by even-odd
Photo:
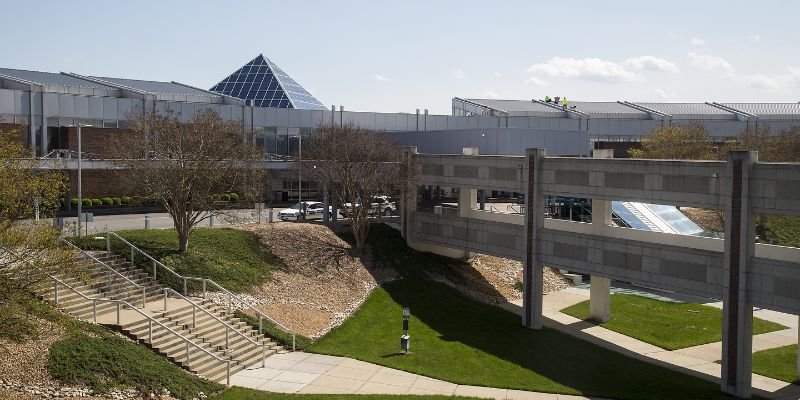
[[623, 66], [599, 58], [553, 57], [546, 63], [534, 64], [528, 72], [554, 78], [578, 78], [605, 82], [631, 82], [639, 79]]

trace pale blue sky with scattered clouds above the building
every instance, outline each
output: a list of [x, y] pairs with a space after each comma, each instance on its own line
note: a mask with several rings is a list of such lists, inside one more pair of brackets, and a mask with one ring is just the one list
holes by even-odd
[[[210, 88], [264, 53], [327, 105], [800, 101], [800, 2], [13, 1], [0, 66]], [[13, 16], [13, 17], [12, 17]]]

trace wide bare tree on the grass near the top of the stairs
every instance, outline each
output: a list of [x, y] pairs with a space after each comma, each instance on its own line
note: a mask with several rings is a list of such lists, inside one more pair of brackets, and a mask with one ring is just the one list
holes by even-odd
[[213, 110], [187, 122], [172, 113], [131, 116], [133, 134], [116, 145], [117, 165], [140, 193], [157, 197], [186, 252], [194, 228], [229, 205], [216, 193], [239, 192], [251, 198], [266, 180], [266, 170], [249, 134], [238, 121], [223, 121]]

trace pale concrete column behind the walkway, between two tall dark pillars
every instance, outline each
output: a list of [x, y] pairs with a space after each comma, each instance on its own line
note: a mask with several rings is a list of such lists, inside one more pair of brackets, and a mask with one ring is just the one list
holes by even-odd
[[[593, 158], [613, 158], [614, 150], [593, 150]], [[602, 235], [611, 226], [611, 202], [592, 199], [592, 231]], [[592, 276], [589, 289], [589, 318], [607, 322], [611, 317], [611, 279]]]

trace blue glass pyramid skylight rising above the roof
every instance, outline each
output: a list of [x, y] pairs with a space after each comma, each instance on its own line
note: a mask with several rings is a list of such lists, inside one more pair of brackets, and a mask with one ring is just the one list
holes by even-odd
[[253, 100], [257, 107], [326, 109], [311, 93], [263, 54], [214, 85], [211, 91]]

